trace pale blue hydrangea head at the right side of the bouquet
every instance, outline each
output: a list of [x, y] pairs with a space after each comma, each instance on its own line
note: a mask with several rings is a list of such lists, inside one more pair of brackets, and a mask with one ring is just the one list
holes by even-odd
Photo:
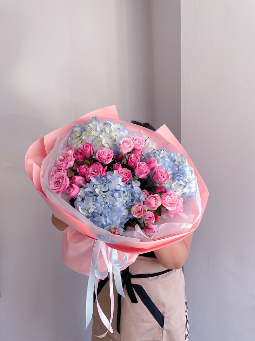
[[[195, 196], [197, 178], [184, 154], [169, 152], [165, 148], [153, 149], [144, 155], [142, 161], [147, 161], [151, 157], [154, 157], [157, 164], [169, 174], [169, 179], [160, 186], [164, 186], [167, 190], [174, 190], [184, 201]], [[152, 176], [151, 173], [149, 176]]]

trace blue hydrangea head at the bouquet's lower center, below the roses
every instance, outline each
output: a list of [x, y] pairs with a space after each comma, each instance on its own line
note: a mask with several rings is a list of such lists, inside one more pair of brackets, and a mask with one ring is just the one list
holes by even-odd
[[145, 199], [140, 182], [130, 179], [121, 181], [118, 170], [108, 171], [105, 177], [91, 177], [79, 192], [74, 206], [93, 224], [106, 230], [112, 227], [123, 233], [125, 222], [133, 217], [130, 209]]

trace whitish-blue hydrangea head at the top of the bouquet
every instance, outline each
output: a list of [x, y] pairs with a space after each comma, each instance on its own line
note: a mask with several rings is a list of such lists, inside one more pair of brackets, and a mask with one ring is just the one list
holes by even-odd
[[86, 124], [76, 124], [72, 128], [68, 146], [80, 148], [82, 143], [91, 143], [96, 150], [106, 147], [116, 155], [119, 153], [119, 140], [128, 135], [128, 129], [122, 123], [102, 122], [94, 116]]

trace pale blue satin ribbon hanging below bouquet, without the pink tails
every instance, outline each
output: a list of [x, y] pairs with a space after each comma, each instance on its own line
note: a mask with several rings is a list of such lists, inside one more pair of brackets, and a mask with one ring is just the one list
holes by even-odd
[[[104, 245], [102, 245], [102, 243]], [[110, 254], [108, 253], [108, 255], [106, 255], [104, 246], [106, 246], [104, 242], [96, 240], [94, 247], [93, 247], [92, 259], [91, 259], [90, 271], [89, 271], [89, 277], [88, 277], [88, 285], [87, 285], [87, 296], [86, 296], [86, 328], [89, 325], [89, 322], [91, 321], [92, 314], [93, 314], [93, 294], [94, 294], [96, 277], [105, 278], [108, 275], [109, 261], [112, 264], [116, 289], [121, 296], [126, 298], [124, 295], [123, 287], [122, 287], [122, 281], [121, 281], [121, 275], [120, 275], [119, 269], [120, 267], [124, 266], [127, 263], [127, 253], [125, 254], [123, 261], [119, 264], [119, 257], [118, 257], [117, 250], [112, 249], [109, 246], [106, 246], [110, 248]], [[97, 270], [100, 250], [102, 251], [104, 261], [107, 265], [107, 270], [105, 271]]]

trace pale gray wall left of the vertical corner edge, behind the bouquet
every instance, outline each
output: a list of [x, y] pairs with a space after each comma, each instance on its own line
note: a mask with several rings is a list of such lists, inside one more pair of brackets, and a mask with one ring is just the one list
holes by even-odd
[[89, 340], [87, 277], [63, 265], [61, 232], [24, 156], [43, 135], [113, 104], [121, 119], [165, 122], [180, 139], [176, 2], [2, 1], [0, 340]]

